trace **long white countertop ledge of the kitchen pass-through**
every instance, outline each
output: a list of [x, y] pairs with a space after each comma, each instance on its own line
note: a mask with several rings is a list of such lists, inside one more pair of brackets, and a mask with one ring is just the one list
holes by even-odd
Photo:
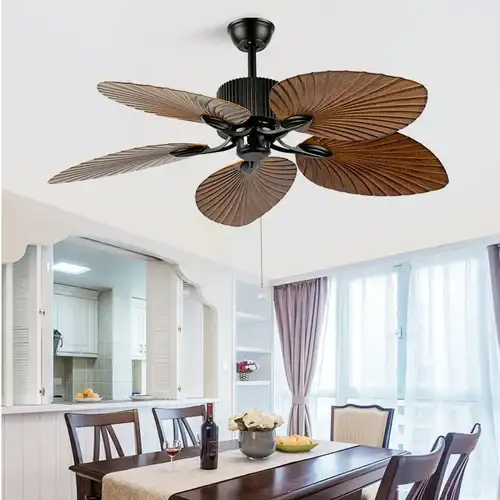
[[29, 406], [2, 406], [0, 413], [2, 415], [16, 415], [22, 413], [47, 413], [59, 411], [80, 411], [80, 410], [113, 410], [113, 409], [132, 409], [151, 406], [162, 406], [178, 408], [182, 406], [191, 406], [196, 404], [216, 403], [215, 398], [184, 398], [184, 399], [151, 399], [149, 401], [99, 401], [97, 403], [52, 403], [50, 405], [29, 405]]

